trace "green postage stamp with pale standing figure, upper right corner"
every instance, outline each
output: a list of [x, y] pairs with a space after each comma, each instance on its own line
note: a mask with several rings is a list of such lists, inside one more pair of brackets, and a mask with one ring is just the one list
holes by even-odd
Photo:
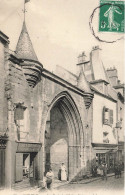
[[99, 31], [124, 33], [125, 1], [100, 0]]

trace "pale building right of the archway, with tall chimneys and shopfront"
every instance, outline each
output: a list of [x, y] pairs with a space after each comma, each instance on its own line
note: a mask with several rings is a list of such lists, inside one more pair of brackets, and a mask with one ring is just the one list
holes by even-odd
[[92, 156], [97, 166], [102, 161], [113, 171], [117, 162], [124, 162], [124, 85], [119, 84], [117, 70], [105, 70], [101, 49], [93, 47], [90, 61], [79, 56], [87, 81], [94, 90], [92, 102]]

